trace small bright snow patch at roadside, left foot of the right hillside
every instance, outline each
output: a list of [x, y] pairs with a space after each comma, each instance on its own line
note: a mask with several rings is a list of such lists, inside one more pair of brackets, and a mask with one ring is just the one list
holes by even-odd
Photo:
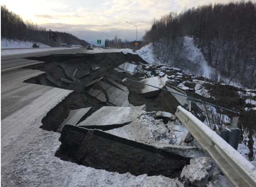
[[145, 45], [141, 47], [140, 50], [137, 50], [136, 53], [145, 61], [151, 64], [160, 64], [160, 62], [155, 58], [153, 54], [152, 44]]

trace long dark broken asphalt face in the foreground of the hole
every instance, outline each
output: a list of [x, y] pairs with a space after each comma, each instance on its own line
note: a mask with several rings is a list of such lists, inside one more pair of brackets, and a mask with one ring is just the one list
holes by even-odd
[[57, 156], [95, 169], [135, 176], [179, 176], [189, 159], [99, 130], [65, 125]]

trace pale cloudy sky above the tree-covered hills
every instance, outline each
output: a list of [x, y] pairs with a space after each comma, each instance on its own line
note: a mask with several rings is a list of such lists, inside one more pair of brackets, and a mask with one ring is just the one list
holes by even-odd
[[[80, 39], [96, 44], [118, 36], [134, 41], [136, 27], [138, 40], [150, 29], [154, 18], [170, 12], [209, 3], [225, 3], [230, 0], [1, 0], [10, 11], [23, 20], [37, 23], [53, 31], [68, 32]], [[252, 0], [256, 1], [256, 0]], [[103, 32], [107, 33], [104, 34]]]

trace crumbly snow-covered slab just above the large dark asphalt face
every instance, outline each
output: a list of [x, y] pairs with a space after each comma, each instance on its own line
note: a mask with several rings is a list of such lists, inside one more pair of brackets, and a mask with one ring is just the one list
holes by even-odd
[[131, 123], [106, 132], [129, 140], [150, 144], [187, 158], [201, 157], [204, 155], [203, 151], [194, 146], [170, 144], [173, 136], [173, 132], [170, 132], [170, 125], [173, 122], [164, 124], [162, 119], [155, 119], [154, 116], [155, 112], [143, 112]]

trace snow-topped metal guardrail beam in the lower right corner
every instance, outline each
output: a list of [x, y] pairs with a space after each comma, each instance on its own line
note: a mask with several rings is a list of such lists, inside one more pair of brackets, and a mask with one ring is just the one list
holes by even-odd
[[181, 106], [175, 115], [235, 187], [256, 187], [256, 167], [203, 122]]

